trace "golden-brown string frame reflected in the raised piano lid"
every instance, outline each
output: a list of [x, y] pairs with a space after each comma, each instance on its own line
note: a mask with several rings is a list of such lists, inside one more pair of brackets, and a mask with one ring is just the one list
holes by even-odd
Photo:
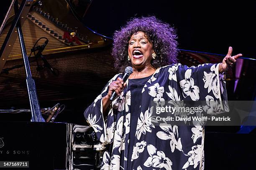
[[[31, 48], [41, 37], [49, 39], [43, 51], [44, 55], [109, 46], [112, 43], [111, 39], [93, 32], [80, 22], [91, 2], [92, 0], [79, 0], [78, 3], [76, 0], [34, 0], [22, 26], [27, 54], [29, 55]], [[5, 40], [13, 18], [14, 10], [11, 9], [0, 35], [0, 46]], [[40, 40], [36, 46], [42, 45], [44, 41]], [[22, 58], [18, 38], [8, 60], [17, 58]]]

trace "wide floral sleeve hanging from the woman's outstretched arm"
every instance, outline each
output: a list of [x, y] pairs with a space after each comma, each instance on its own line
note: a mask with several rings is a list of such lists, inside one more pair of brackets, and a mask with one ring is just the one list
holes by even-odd
[[218, 68], [219, 64], [210, 63], [197, 67], [177, 65], [177, 83], [184, 100], [205, 101], [208, 107], [216, 106], [218, 102], [220, 108], [208, 114], [228, 111], [225, 74], [219, 74]]

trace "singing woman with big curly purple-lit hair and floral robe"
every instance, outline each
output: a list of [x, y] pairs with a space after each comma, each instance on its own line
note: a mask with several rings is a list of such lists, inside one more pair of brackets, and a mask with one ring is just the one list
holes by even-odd
[[[95, 148], [105, 149], [101, 169], [202, 170], [203, 126], [156, 126], [153, 106], [227, 100], [219, 74], [242, 55], [231, 56], [230, 47], [222, 63], [182, 66], [174, 28], [155, 17], [133, 18], [113, 39], [115, 68], [123, 72], [131, 66], [133, 73], [126, 82], [122, 74], [115, 75], [84, 112], [99, 140]], [[111, 102], [114, 91], [118, 97]]]

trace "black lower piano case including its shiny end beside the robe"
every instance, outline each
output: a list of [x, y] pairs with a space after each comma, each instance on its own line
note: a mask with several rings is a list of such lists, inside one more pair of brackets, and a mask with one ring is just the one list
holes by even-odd
[[96, 151], [87, 140], [92, 128], [83, 126], [84, 132], [75, 132], [76, 126], [0, 121], [0, 161], [27, 161], [24, 170], [94, 170]]

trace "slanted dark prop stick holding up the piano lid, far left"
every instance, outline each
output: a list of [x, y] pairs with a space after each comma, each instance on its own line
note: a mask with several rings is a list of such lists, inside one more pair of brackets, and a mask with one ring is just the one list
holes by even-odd
[[24, 42], [23, 33], [21, 29], [26, 19], [26, 16], [28, 15], [28, 12], [31, 8], [32, 3], [33, 3], [33, 0], [23, 0], [19, 7], [18, 0], [13, 0], [10, 5], [8, 13], [5, 16], [3, 25], [1, 25], [0, 32], [2, 32], [2, 29], [6, 23], [6, 20], [10, 15], [11, 8], [14, 8], [15, 19], [13, 20], [10, 30], [8, 31], [8, 34], [5, 37], [5, 41], [0, 49], [0, 72], [2, 71], [3, 66], [5, 65], [5, 62], [10, 54], [10, 51], [13, 48], [16, 38], [18, 37], [20, 42], [21, 53], [23, 56], [24, 68], [26, 72], [26, 84], [28, 89], [29, 103], [31, 107], [31, 122], [45, 122], [44, 118], [42, 117], [41, 109], [38, 103], [36, 86], [31, 75], [25, 42]]

